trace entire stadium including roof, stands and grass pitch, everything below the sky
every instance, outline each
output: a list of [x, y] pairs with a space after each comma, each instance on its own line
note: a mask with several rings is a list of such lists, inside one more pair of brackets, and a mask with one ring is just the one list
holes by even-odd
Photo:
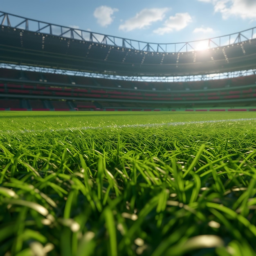
[[256, 27], [0, 23], [1, 255], [256, 255]]

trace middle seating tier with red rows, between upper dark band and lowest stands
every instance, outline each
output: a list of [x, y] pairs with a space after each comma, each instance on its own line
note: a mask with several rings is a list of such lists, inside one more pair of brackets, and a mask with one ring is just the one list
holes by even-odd
[[[5, 88], [2, 88], [5, 85]], [[24, 84], [1, 83], [0, 92], [3, 94], [22, 95], [45, 95], [49, 97], [83, 97], [83, 98], [109, 98], [109, 99], [130, 99], [130, 100], [152, 100], [152, 101], [202, 101], [221, 99], [244, 99], [256, 96], [256, 87], [253, 85], [246, 90], [217, 91], [217, 92], [196, 92], [196, 93], [143, 93], [123, 92], [113, 90], [85, 90], [79, 88], [56, 88], [35, 85], [31, 90], [25, 90], [28, 86]], [[68, 89], [68, 90], [67, 90]]]

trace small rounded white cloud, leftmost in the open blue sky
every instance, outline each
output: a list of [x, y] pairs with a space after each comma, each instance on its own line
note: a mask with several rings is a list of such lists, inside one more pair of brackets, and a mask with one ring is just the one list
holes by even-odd
[[112, 15], [115, 11], [118, 11], [118, 9], [101, 5], [95, 9], [93, 16], [97, 18], [99, 25], [102, 27], [107, 27], [113, 22], [114, 17]]

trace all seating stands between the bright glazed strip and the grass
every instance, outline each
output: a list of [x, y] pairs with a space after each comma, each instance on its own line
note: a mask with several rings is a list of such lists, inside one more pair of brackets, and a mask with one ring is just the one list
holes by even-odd
[[[1, 109], [179, 110], [256, 107], [256, 75], [190, 82], [140, 82], [0, 70]], [[43, 79], [36, 79], [43, 77]], [[36, 80], [35, 80], [36, 79]], [[61, 82], [60, 82], [61, 81]], [[74, 83], [74, 81], [76, 81]], [[77, 83], [79, 81], [79, 83]], [[9, 104], [6, 102], [9, 101]], [[20, 103], [17, 103], [20, 101]]]

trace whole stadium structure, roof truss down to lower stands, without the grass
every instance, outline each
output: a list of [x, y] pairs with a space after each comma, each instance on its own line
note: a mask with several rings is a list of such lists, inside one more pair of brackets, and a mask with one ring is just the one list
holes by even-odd
[[[30, 29], [32, 21], [38, 23], [38, 29]], [[195, 51], [191, 47], [193, 42], [180, 47], [136, 41], [144, 47], [135, 48], [134, 42], [125, 38], [121, 38], [120, 47], [110, 36], [101, 35], [103, 39], [99, 40], [99, 34], [78, 33], [77, 29], [45, 22], [42, 30], [40, 21], [3, 12], [0, 22], [1, 110], [256, 108], [256, 39], [245, 36], [253, 29], [229, 35], [234, 40], [229, 39], [227, 45], [220, 43], [222, 37], [211, 38], [209, 49]], [[65, 32], [53, 34], [52, 26]], [[83, 33], [90, 36], [85, 38]], [[170, 46], [173, 51], [168, 51]], [[245, 75], [242, 72], [245, 70], [251, 70], [250, 74]], [[224, 72], [227, 72], [225, 78], [209, 78], [211, 74]], [[228, 72], [241, 75], [229, 77]], [[139, 79], [144, 76], [173, 77], [173, 81]], [[193, 79], [182, 79], [188, 77]]]

